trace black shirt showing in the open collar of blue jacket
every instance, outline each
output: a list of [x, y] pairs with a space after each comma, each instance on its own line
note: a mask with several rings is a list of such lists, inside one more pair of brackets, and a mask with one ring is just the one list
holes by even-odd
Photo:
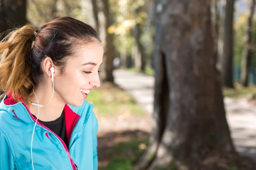
[[48, 127], [50, 130], [52, 130], [54, 133], [56, 133], [56, 135], [58, 135], [64, 141], [64, 143], [66, 144], [66, 146], [68, 148], [64, 111], [62, 111], [61, 116], [54, 121], [51, 121], [51, 122], [43, 122], [41, 120], [39, 120], [39, 121], [44, 126]]

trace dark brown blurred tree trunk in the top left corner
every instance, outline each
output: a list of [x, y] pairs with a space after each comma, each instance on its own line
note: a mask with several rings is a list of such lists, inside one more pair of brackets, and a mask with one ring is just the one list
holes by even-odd
[[[0, 1], [0, 33], [26, 23], [26, 0]], [[2, 38], [5, 35], [3, 34]]]

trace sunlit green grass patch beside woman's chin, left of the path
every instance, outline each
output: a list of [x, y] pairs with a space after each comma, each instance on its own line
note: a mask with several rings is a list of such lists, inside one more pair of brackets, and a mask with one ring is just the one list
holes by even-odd
[[94, 88], [90, 91], [87, 101], [94, 105], [93, 111], [99, 116], [145, 114], [130, 94], [111, 83], [103, 83], [101, 87]]

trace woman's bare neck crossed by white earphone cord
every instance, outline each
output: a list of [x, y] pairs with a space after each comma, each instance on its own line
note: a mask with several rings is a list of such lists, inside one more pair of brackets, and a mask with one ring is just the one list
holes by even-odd
[[[48, 88], [46, 88], [45, 86], [38, 86], [35, 89], [35, 94], [37, 96], [39, 105], [44, 106], [48, 104], [48, 102], [52, 97], [52, 90], [53, 90], [52, 85], [48, 86]], [[32, 93], [30, 97], [30, 101], [37, 104], [35, 94]], [[58, 94], [54, 92], [54, 95], [49, 105], [47, 105], [46, 107], [39, 107], [39, 110], [40, 110], [39, 116], [38, 116], [38, 106], [29, 104], [29, 110], [33, 115], [38, 117], [38, 119], [43, 122], [54, 121], [61, 116], [61, 113], [65, 106], [65, 103], [62, 102], [62, 100], [59, 98], [60, 97], [58, 96]]]

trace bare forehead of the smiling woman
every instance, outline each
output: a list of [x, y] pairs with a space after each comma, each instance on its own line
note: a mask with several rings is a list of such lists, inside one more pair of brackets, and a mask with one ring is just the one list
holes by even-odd
[[83, 64], [85, 62], [94, 62], [97, 65], [102, 63], [103, 47], [99, 42], [91, 42], [86, 45], [75, 46], [76, 53], [75, 57], [71, 57], [67, 64]]

